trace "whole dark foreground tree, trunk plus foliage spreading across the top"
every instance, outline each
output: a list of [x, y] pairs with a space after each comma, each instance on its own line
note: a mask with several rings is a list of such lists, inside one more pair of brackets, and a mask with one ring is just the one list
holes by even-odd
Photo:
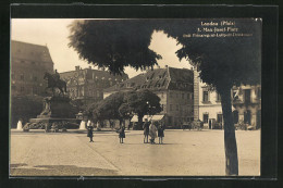
[[[106, 66], [113, 73], [121, 73], [124, 66], [135, 68], [152, 66], [161, 58], [148, 50], [155, 29], [175, 38], [181, 43], [181, 48], [176, 51], [180, 60], [185, 58], [197, 66], [200, 78], [214, 87], [221, 96], [226, 175], [237, 175], [237, 147], [230, 92], [232, 86], [260, 83], [261, 21], [257, 18], [225, 20], [226, 23], [235, 23], [230, 27], [237, 28], [239, 32], [217, 34], [232, 34], [231, 37], [192, 36], [192, 34], [213, 34], [213, 32], [206, 32], [200, 24], [212, 21], [220, 24], [219, 20], [76, 22], [71, 26], [70, 47], [73, 47], [82, 59], [95, 65]], [[206, 28], [213, 29], [214, 26], [206, 26]], [[239, 35], [234, 36], [234, 34]], [[251, 35], [241, 36], [241, 34]]]

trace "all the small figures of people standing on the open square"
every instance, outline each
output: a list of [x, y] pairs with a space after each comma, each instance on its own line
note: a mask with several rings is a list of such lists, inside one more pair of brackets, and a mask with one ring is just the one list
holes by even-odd
[[[157, 137], [159, 137], [159, 143], [163, 143], [163, 137], [164, 137], [164, 126], [162, 123], [159, 122], [152, 122], [148, 121], [147, 118], [145, 120], [146, 122], [143, 125], [144, 129], [144, 143], [148, 143], [148, 136], [150, 137], [149, 141], [150, 143], [156, 143], [155, 140]], [[87, 126], [87, 137], [90, 138], [89, 142], [94, 142], [93, 137], [94, 137], [94, 127], [91, 125]], [[157, 134], [158, 133], [158, 134]], [[125, 138], [125, 126], [122, 126], [119, 129], [119, 139], [120, 143], [124, 142]]]

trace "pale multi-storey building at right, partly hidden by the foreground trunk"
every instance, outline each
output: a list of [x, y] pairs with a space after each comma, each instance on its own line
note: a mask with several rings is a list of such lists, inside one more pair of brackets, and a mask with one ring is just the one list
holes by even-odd
[[[241, 86], [231, 90], [234, 123], [243, 122], [255, 128], [260, 127], [261, 89], [258, 86]], [[204, 122], [205, 128], [223, 127], [221, 98], [202, 83], [194, 71], [194, 120]]]

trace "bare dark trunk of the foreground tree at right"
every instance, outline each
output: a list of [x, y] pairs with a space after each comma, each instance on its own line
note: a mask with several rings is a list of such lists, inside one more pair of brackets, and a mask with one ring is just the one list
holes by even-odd
[[238, 175], [237, 142], [235, 136], [235, 126], [232, 113], [231, 88], [224, 88], [219, 91], [224, 120], [224, 146], [226, 156], [226, 175]]

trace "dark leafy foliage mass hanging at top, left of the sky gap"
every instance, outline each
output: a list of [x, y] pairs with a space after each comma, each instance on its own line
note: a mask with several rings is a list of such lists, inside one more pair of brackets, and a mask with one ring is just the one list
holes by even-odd
[[75, 21], [70, 25], [69, 46], [81, 59], [114, 74], [125, 66], [145, 70], [161, 59], [148, 48], [153, 27], [147, 20]]

